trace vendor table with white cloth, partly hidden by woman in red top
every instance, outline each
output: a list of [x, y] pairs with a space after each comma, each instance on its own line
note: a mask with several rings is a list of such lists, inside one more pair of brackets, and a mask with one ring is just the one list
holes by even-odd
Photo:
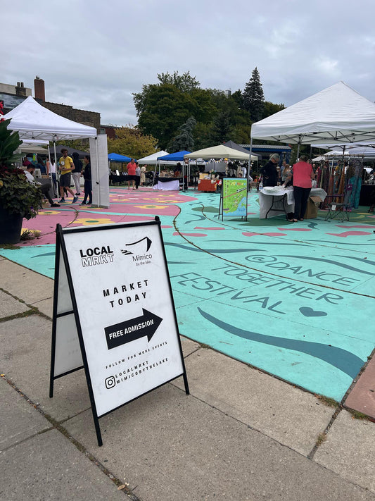
[[[326, 192], [322, 188], [312, 188], [309, 203], [307, 204], [306, 218], [317, 217], [317, 211], [312, 210], [312, 204], [324, 202]], [[270, 216], [294, 212], [293, 187], [266, 186], [259, 192], [259, 218], [266, 219]]]

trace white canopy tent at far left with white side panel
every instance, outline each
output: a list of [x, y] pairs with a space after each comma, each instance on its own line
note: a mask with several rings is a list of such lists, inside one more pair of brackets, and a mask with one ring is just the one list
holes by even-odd
[[55, 158], [57, 158], [56, 141], [89, 138], [92, 185], [96, 187], [96, 190], [93, 190], [93, 202], [98, 206], [109, 206], [106, 135], [98, 136], [96, 128], [53, 113], [31, 96], [6, 113], [4, 118], [11, 119], [8, 129], [18, 131], [20, 140], [53, 141]]

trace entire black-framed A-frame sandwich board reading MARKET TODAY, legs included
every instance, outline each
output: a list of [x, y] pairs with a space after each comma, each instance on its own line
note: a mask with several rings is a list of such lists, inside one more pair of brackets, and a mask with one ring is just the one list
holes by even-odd
[[56, 378], [84, 369], [98, 419], [186, 377], [159, 218], [56, 227], [50, 397]]

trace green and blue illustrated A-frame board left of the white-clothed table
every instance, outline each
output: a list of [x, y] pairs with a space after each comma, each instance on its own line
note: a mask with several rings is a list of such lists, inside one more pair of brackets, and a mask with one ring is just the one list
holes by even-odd
[[220, 199], [222, 216], [241, 216], [247, 219], [248, 180], [246, 178], [223, 178]]

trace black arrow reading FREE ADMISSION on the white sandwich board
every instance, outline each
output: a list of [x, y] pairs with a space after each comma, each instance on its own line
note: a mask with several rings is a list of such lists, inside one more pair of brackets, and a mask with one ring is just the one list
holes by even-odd
[[136, 316], [125, 322], [115, 323], [113, 326], [105, 327], [108, 350], [117, 346], [125, 345], [127, 342], [134, 341], [147, 336], [148, 342], [156, 332], [163, 318], [157, 316], [151, 311], [142, 308], [143, 314]]

